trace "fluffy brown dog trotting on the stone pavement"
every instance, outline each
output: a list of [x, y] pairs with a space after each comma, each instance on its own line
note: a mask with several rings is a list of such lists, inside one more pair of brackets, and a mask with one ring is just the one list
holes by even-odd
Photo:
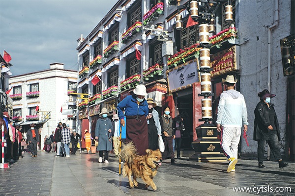
[[[146, 184], [146, 189], [151, 186], [153, 190], [157, 190], [153, 177], [157, 174], [158, 167], [162, 164], [162, 153], [157, 150], [146, 150], [145, 156], [139, 156], [137, 150], [130, 142], [126, 145], [123, 144], [120, 152], [120, 158], [124, 160], [123, 176], [128, 176], [130, 188], [138, 186], [136, 178], [142, 178]], [[133, 182], [131, 175], [133, 175]]]

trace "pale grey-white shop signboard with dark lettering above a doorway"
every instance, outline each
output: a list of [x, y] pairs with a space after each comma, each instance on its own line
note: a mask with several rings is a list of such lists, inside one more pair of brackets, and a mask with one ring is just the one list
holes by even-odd
[[199, 61], [191, 60], [167, 71], [169, 93], [191, 87], [193, 83], [199, 82]]

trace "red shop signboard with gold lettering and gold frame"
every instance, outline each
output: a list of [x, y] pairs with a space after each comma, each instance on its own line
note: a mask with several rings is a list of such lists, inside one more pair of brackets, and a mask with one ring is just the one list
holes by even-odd
[[236, 55], [237, 49], [238, 48], [234, 46], [212, 55], [211, 68], [213, 68], [213, 71], [211, 72], [211, 76], [239, 69], [239, 60], [236, 59], [238, 57], [238, 55]]

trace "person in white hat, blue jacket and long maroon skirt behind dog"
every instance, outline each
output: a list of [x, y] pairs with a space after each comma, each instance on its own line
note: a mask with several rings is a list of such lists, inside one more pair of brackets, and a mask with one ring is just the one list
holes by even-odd
[[133, 141], [139, 155], [145, 155], [148, 149], [148, 102], [146, 87], [139, 84], [133, 90], [134, 95], [127, 96], [119, 102], [118, 116], [122, 126], [125, 126], [123, 110], [126, 116], [126, 142]]

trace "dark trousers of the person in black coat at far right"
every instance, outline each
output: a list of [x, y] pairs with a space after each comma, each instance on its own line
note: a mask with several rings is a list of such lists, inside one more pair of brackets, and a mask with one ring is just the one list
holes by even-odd
[[281, 151], [279, 148], [279, 139], [275, 132], [275, 133], [269, 134], [268, 140], [258, 141], [258, 148], [257, 148], [258, 162], [263, 163], [264, 161], [266, 143], [270, 147], [270, 150], [273, 153], [274, 158], [276, 160], [282, 159]]

